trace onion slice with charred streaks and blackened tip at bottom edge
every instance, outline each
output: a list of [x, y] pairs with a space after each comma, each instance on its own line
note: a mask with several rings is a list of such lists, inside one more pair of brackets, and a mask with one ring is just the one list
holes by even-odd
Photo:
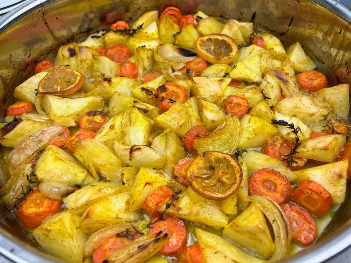
[[144, 235], [113, 253], [105, 263], [141, 263], [152, 257], [163, 246], [167, 234]]

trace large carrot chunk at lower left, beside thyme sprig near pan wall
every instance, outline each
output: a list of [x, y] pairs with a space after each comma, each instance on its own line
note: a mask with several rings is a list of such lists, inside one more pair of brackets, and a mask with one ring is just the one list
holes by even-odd
[[33, 229], [39, 227], [48, 216], [58, 213], [61, 205], [61, 200], [46, 198], [38, 188], [34, 188], [27, 200], [19, 203], [17, 217], [25, 228]]

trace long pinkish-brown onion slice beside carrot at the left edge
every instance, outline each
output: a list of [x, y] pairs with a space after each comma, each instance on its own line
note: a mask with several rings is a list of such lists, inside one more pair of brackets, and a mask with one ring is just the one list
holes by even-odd
[[31, 161], [40, 149], [44, 148], [54, 136], [64, 129], [65, 127], [53, 125], [34, 133], [9, 153], [8, 163], [13, 167], [18, 167]]

